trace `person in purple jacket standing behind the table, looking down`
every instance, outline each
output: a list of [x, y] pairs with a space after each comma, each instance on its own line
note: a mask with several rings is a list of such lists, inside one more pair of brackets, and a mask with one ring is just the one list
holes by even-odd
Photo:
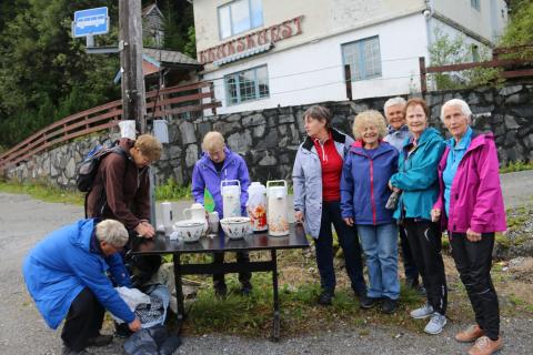
[[[220, 183], [222, 180], [239, 180], [241, 183], [241, 214], [247, 213], [248, 186], [250, 178], [248, 173], [247, 162], [239, 154], [233, 153], [225, 146], [224, 138], [220, 132], [208, 132], [202, 141], [202, 158], [194, 164], [192, 171], [192, 195], [194, 202], [204, 204], [203, 196], [208, 190], [214, 200], [214, 211], [223, 219], [222, 193]], [[222, 265], [224, 262], [224, 253], [214, 253], [213, 263]], [[248, 252], [238, 252], [237, 262], [245, 264], [250, 262]], [[252, 283], [250, 272], [239, 273], [241, 282], [241, 294], [249, 295], [252, 292]], [[214, 293], [217, 296], [224, 297], [228, 287], [224, 281], [224, 274], [213, 275]]]

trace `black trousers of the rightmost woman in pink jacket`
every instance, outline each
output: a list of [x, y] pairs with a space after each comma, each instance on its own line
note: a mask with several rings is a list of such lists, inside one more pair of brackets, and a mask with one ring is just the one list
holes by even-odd
[[491, 339], [500, 335], [500, 307], [492, 284], [494, 233], [483, 233], [481, 241], [470, 242], [465, 233], [450, 233], [452, 256], [474, 308], [475, 322]]

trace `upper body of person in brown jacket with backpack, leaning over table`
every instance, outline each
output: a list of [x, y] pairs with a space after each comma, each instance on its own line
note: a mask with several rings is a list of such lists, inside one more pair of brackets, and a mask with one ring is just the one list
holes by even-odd
[[87, 215], [117, 220], [130, 234], [153, 237], [148, 169], [161, 156], [161, 143], [153, 135], [142, 134], [135, 141], [121, 139], [119, 146], [125, 154], [110, 153], [98, 168], [87, 199]]

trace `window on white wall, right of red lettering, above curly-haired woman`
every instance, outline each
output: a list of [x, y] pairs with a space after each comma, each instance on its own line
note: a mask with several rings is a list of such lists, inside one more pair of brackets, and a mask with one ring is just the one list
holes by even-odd
[[352, 81], [381, 77], [380, 38], [342, 44], [342, 59], [350, 64]]

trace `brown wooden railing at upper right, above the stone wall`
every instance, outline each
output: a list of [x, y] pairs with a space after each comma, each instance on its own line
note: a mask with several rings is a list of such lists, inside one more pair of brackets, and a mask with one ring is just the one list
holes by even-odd
[[[493, 50], [493, 59], [484, 62], [471, 62], [460, 64], [435, 65], [425, 67], [425, 58], [419, 58], [420, 67], [420, 89], [422, 94], [428, 92], [428, 74], [430, 73], [444, 73], [451, 71], [462, 71], [473, 68], [502, 68], [502, 78], [523, 78], [533, 77], [533, 58], [525, 59], [500, 59], [501, 54], [519, 54], [523, 50], [532, 50], [533, 44], [524, 44], [517, 47], [495, 48]], [[520, 67], [520, 69], [516, 69]]]

